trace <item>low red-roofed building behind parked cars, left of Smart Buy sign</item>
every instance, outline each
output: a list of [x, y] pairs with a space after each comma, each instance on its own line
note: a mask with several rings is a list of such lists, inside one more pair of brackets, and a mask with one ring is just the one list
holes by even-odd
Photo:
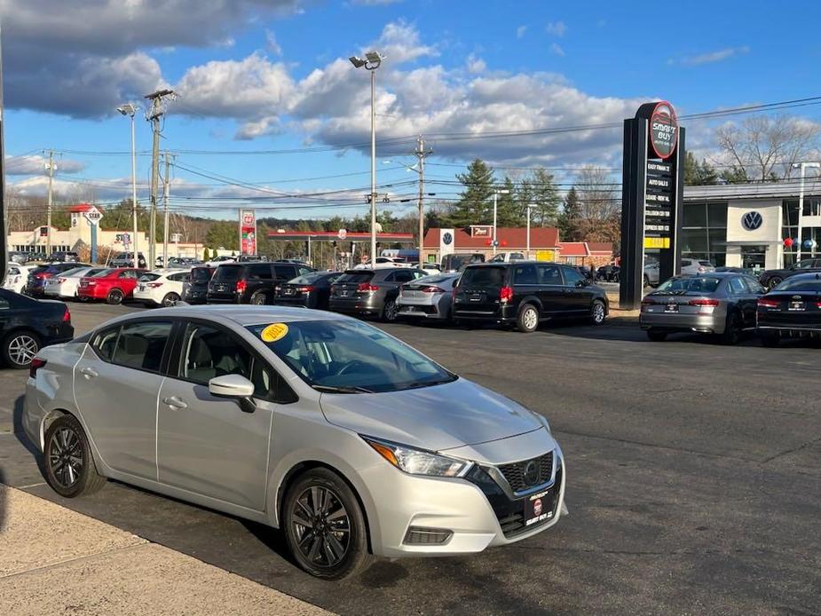
[[[612, 260], [612, 244], [588, 241], [559, 241], [556, 227], [531, 227], [527, 255], [526, 227], [496, 228], [496, 252], [518, 252], [540, 261], [562, 261], [574, 265], [605, 265]], [[434, 227], [425, 233], [422, 258], [440, 263], [446, 255], [481, 254], [493, 257], [493, 225], [470, 225], [464, 229]]]

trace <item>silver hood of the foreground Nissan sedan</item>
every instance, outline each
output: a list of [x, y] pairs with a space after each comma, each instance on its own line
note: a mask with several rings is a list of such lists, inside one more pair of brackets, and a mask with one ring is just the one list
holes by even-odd
[[463, 378], [405, 391], [323, 393], [320, 407], [328, 422], [342, 428], [433, 451], [544, 427], [517, 402]]

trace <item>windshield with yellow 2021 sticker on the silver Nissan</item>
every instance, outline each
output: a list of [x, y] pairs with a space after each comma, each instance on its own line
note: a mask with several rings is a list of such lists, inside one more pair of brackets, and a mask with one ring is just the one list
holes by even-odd
[[300, 320], [248, 329], [318, 391], [382, 393], [457, 378], [381, 329], [356, 320]]

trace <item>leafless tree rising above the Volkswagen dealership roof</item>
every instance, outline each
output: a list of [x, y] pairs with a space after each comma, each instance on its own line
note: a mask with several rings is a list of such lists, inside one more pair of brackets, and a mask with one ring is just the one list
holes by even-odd
[[716, 130], [718, 146], [749, 178], [789, 178], [793, 162], [817, 154], [821, 125], [785, 115], [760, 115]]

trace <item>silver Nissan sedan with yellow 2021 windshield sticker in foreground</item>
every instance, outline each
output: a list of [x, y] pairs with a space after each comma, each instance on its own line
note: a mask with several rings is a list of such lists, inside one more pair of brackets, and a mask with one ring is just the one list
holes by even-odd
[[23, 424], [58, 494], [114, 478], [271, 525], [320, 578], [520, 541], [564, 509], [541, 415], [330, 312], [110, 320], [37, 354]]

